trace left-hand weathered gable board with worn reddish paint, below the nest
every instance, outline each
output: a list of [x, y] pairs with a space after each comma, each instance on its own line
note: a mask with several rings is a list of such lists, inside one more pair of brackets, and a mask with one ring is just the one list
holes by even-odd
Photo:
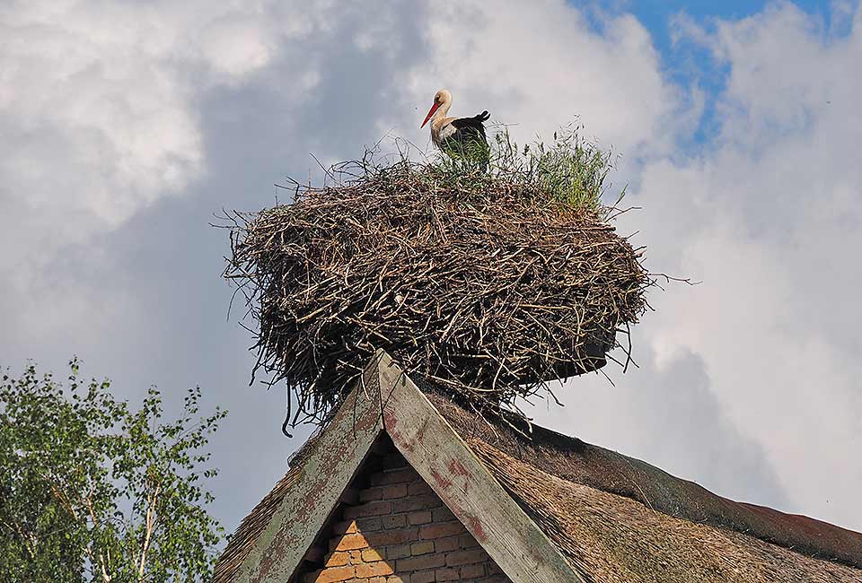
[[[377, 359], [304, 457], [296, 483], [242, 565], [243, 583], [286, 583], [383, 431]], [[348, 492], [349, 495], [349, 492]]]

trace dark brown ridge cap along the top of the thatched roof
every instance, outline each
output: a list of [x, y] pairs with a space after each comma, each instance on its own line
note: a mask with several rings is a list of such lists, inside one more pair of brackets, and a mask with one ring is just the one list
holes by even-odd
[[427, 397], [471, 446], [487, 444], [507, 456], [576, 483], [634, 500], [657, 512], [716, 526], [813, 557], [862, 569], [862, 535], [814, 518], [728, 500], [633, 457], [585, 443], [515, 417], [482, 420], [426, 387]]

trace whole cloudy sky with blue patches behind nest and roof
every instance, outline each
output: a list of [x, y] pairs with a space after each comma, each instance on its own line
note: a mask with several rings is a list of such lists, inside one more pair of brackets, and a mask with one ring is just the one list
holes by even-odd
[[[608, 3], [603, 3], [608, 4]], [[221, 209], [418, 125], [434, 92], [520, 140], [578, 119], [621, 154], [620, 231], [690, 276], [649, 298], [638, 370], [539, 422], [715, 492], [862, 530], [858, 2], [0, 4], [0, 364], [231, 414], [214, 511], [284, 473], [283, 391], [249, 387]], [[705, 7], [715, 4], [716, 7]]]

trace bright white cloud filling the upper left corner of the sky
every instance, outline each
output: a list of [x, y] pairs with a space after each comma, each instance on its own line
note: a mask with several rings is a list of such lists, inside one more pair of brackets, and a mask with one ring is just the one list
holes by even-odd
[[75, 214], [77, 229], [59, 230], [68, 243], [181, 195], [206, 169], [201, 93], [241, 82], [305, 31], [269, 4], [4, 4], [4, 204], [39, 216], [36, 230]]

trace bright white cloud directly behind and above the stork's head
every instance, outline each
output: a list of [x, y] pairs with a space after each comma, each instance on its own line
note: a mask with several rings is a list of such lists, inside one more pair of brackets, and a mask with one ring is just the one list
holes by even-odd
[[630, 15], [607, 16], [597, 31], [562, 0], [439, 1], [426, 30], [429, 58], [410, 77], [410, 105], [430, 107], [445, 86], [453, 115], [489, 109], [492, 122], [517, 124], [522, 143], [579, 117], [606, 147], [655, 154], [670, 144], [668, 120], [684, 113], [682, 91], [664, 81], [647, 30]]

